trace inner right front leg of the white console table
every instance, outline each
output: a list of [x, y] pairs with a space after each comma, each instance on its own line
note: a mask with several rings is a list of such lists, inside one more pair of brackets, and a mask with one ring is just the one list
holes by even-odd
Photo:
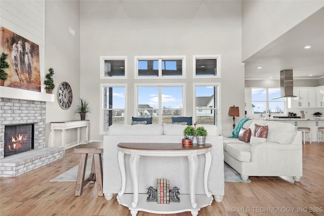
[[198, 157], [197, 152], [192, 151], [189, 159], [189, 181], [190, 181], [190, 201], [193, 208], [197, 207], [196, 198], [195, 198], [195, 185], [197, 177], [197, 167], [198, 167]]

